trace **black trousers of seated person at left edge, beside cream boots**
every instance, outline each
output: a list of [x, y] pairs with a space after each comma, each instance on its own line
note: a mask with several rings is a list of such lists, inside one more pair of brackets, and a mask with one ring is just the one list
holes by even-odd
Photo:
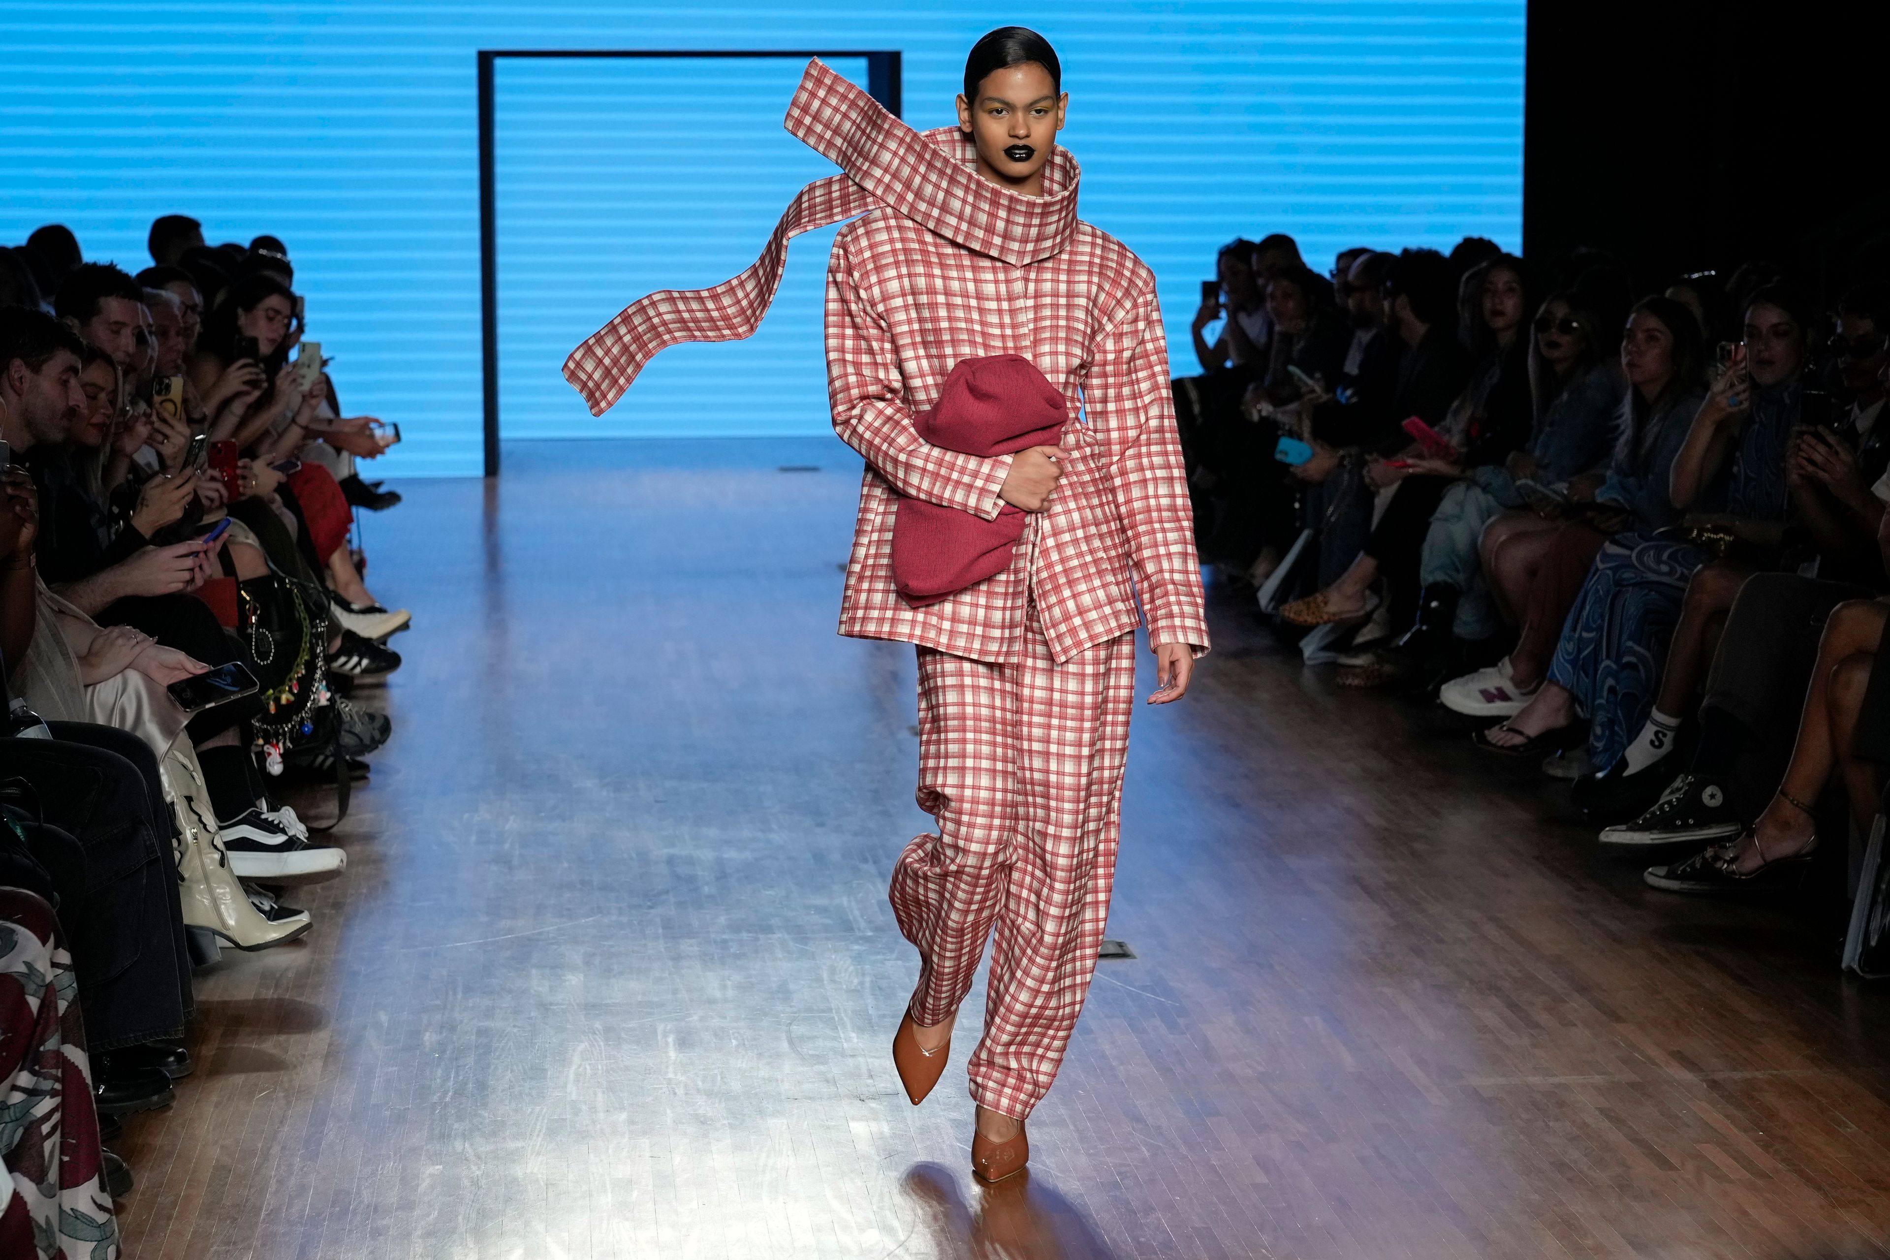
[[42, 865], [59, 892], [87, 1043], [113, 1050], [178, 1037], [191, 1013], [191, 962], [157, 758], [115, 727], [51, 727], [49, 741], [0, 741], [0, 775], [30, 782], [43, 822], [72, 837]]

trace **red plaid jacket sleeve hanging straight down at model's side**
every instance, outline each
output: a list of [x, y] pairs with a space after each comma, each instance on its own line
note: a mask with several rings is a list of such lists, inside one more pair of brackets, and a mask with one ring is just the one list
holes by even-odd
[[1168, 334], [1153, 276], [1145, 278], [1125, 319], [1096, 346], [1083, 382], [1083, 408], [1111, 453], [1109, 482], [1128, 533], [1149, 644], [1185, 642], [1202, 656], [1208, 616], [1194, 555], [1194, 508], [1181, 465], [1168, 389]]

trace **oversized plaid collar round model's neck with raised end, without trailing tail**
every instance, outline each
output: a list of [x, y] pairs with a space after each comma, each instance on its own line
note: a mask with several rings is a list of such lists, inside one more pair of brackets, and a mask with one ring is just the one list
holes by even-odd
[[1043, 166], [1043, 196], [1013, 193], [977, 174], [977, 149], [962, 130], [917, 132], [818, 59], [801, 76], [786, 128], [875, 200], [1002, 263], [1040, 263], [1075, 232], [1083, 170], [1062, 145]]

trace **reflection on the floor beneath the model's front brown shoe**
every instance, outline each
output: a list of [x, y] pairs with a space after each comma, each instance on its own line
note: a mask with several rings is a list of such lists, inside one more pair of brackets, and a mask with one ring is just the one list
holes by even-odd
[[968, 1203], [958, 1179], [939, 1164], [905, 1173], [905, 1194], [919, 1207], [919, 1226], [932, 1249], [951, 1260], [1115, 1260], [1083, 1211], [1032, 1181], [1030, 1169], [994, 1186], [971, 1183]]

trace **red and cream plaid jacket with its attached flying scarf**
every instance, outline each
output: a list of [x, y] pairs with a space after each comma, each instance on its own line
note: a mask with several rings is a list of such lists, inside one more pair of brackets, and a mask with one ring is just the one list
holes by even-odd
[[[833, 244], [826, 300], [833, 429], [866, 457], [841, 633], [1013, 663], [1034, 599], [1064, 661], [1134, 629], [1140, 591], [1153, 642], [1206, 652], [1155, 276], [1075, 217], [1075, 159], [1053, 153], [1043, 196], [1000, 189], [977, 176], [958, 128], [919, 134], [818, 60], [786, 127], [847, 174], [801, 189], [741, 276], [652, 293], [573, 351], [565, 378], [592, 412], [663, 346], [754, 332], [788, 238], [864, 213]], [[898, 497], [994, 518], [1011, 465], [930, 446], [913, 416], [937, 402], [953, 365], [996, 353], [1028, 357], [1068, 399], [1079, 423], [1066, 429], [1064, 472], [1011, 569], [911, 608], [892, 582]]]

